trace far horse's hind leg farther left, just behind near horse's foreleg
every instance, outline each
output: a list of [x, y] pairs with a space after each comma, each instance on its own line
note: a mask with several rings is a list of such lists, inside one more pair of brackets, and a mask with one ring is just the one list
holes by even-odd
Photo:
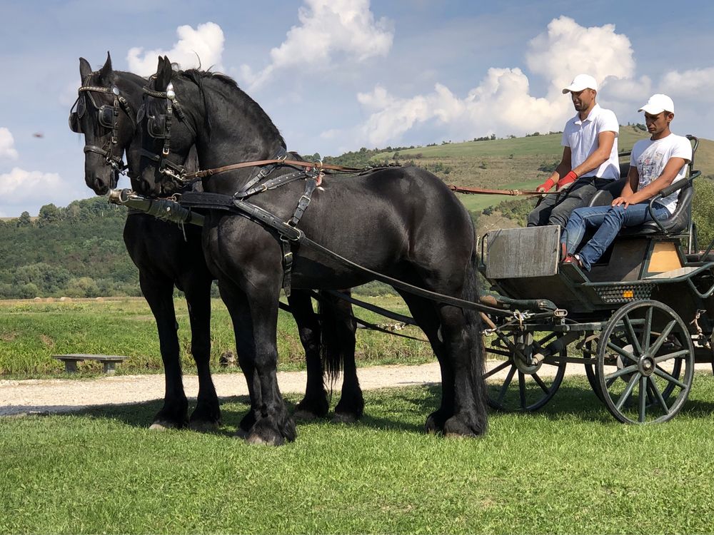
[[308, 380], [305, 397], [298, 403], [295, 417], [315, 419], [326, 416], [330, 405], [323, 382], [323, 367], [320, 358], [320, 322], [312, 306], [308, 292], [293, 290], [288, 297], [291, 312], [298, 325], [300, 341], [305, 349]]

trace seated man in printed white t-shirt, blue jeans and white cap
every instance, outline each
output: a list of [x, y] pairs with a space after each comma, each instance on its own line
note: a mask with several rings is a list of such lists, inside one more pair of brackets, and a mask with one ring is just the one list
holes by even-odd
[[[684, 178], [687, 163], [692, 159], [692, 146], [683, 136], [670, 131], [674, 118], [674, 103], [666, 95], [653, 95], [638, 111], [645, 112], [649, 139], [635, 143], [630, 156], [628, 183], [611, 206], [578, 208], [568, 220], [561, 238], [565, 263], [575, 263], [590, 270], [593, 263], [613, 243], [620, 228], [641, 225], [651, 220], [648, 200], [675, 180]], [[679, 192], [653, 203], [655, 218], [667, 218], [677, 208]], [[583, 240], [585, 230], [597, 228], [593, 238], [577, 255], [575, 250]]]

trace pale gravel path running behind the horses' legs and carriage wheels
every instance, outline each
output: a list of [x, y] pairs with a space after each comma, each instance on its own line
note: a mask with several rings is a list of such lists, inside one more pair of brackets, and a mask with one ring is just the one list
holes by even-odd
[[[489, 367], [496, 362], [489, 362]], [[543, 367], [538, 374], [547, 375]], [[711, 372], [711, 365], [697, 365], [696, 370]], [[551, 368], [552, 370], [553, 368]], [[583, 367], [570, 365], [565, 369], [568, 375], [583, 374]], [[505, 377], [506, 371], [494, 375]], [[406, 387], [416, 384], [430, 384], [441, 381], [437, 362], [418, 366], [373, 366], [358, 370], [363, 389], [385, 387]], [[248, 395], [248, 388], [240, 373], [215, 374], [218, 397]], [[306, 372], [279, 372], [278, 384], [282, 392], [305, 391]], [[340, 383], [341, 384], [341, 383]], [[337, 390], [340, 384], [336, 384]], [[198, 394], [196, 375], [185, 375], [183, 386], [189, 399]], [[23, 381], [0, 380], [0, 416], [67, 412], [84, 407], [106, 404], [129, 404], [163, 399], [164, 376], [119, 375], [98, 379], [27, 379]]]

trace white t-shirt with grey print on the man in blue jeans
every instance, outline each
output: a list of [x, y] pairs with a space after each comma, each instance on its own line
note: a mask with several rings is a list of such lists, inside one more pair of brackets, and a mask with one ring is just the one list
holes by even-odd
[[[630, 156], [630, 165], [636, 165], [637, 173], [640, 175], [638, 190], [659, 178], [670, 158], [684, 158], [685, 160], [684, 165], [682, 165], [682, 168], [672, 181], [672, 183], [675, 183], [687, 174], [687, 162], [692, 159], [692, 144], [690, 141], [684, 136], [676, 136], [670, 133], [666, 138], [656, 141], [641, 139], [635, 143]], [[673, 213], [677, 208], [678, 197], [679, 191], [675, 191], [657, 202], [667, 208], [669, 213]]]

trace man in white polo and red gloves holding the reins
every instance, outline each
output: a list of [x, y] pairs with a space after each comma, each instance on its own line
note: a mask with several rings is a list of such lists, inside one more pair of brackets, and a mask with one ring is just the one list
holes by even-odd
[[[620, 178], [618, 133], [620, 124], [615, 113], [595, 102], [598, 83], [588, 74], [578, 74], [563, 94], [570, 93], [577, 115], [565, 123], [563, 158], [538, 191], [553, 188], [560, 195], [547, 195], [528, 215], [528, 226], [560, 225], [565, 227], [575, 208], [588, 204], [600, 189], [608, 188]], [[565, 190], [565, 188], [568, 188]]]

